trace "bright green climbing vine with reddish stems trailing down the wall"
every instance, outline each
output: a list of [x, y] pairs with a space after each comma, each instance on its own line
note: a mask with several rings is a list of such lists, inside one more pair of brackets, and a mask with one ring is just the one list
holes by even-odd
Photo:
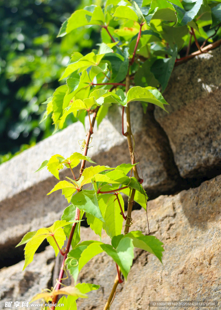
[[[99, 253], [105, 252], [115, 261], [117, 273], [104, 310], [110, 309], [116, 287], [123, 281], [121, 274], [127, 280], [134, 247], [150, 252], [162, 262], [164, 249], [161, 241], [141, 231], [129, 232], [134, 202], [146, 210], [148, 199], [142, 187], [143, 179], [137, 170], [130, 103], [141, 102], [144, 113], [148, 103], [165, 110], [164, 105], [168, 103], [158, 89], [161, 87], [162, 91], [165, 90], [175, 63], [179, 64], [193, 56], [194, 53], [189, 55], [192, 40], [198, 48], [194, 55], [220, 44], [219, 41], [212, 42], [212, 37], [219, 33], [220, 10], [221, 4], [205, 0], [107, 0], [102, 6], [90, 5], [75, 11], [63, 23], [59, 36], [71, 33], [78, 27], [96, 25], [101, 32], [102, 42], [98, 49], [87, 55], [79, 52], [72, 54], [60, 79], [63, 85], [45, 102], [47, 108], [43, 120], [52, 114], [54, 131], [63, 128], [70, 113], [83, 123], [86, 116], [89, 119], [87, 138], [82, 140], [81, 145], [83, 154], [76, 152], [68, 158], [53, 155], [37, 170], [47, 168], [57, 179], [64, 166], [71, 170], [72, 178], [59, 181], [48, 193], [53, 194], [61, 189], [70, 205], [63, 211], [61, 220], [51, 227], [28, 232], [19, 243], [26, 243], [24, 268], [32, 262], [35, 251], [44, 239], [54, 248], [56, 255], [59, 252], [63, 255], [55, 287], [33, 297], [33, 301], [44, 299], [45, 309], [61, 309], [58, 303], [63, 303], [65, 310], [77, 309], [77, 298], [85, 298], [85, 293], [99, 288], [99, 285], [89, 283], [62, 285], [67, 270], [76, 284], [80, 270]], [[208, 25], [212, 29], [210, 36], [203, 29]], [[197, 41], [199, 38], [204, 38], [201, 46]], [[212, 43], [206, 45], [207, 42]], [[178, 52], [185, 44], [186, 55], [180, 59]], [[89, 144], [92, 143], [95, 122], [102, 126], [102, 119], [113, 104], [122, 106], [122, 134], [128, 141], [131, 164], [99, 166], [88, 157]], [[92, 165], [85, 168], [86, 162]], [[79, 164], [79, 175], [75, 175], [73, 168]], [[121, 194], [128, 196], [127, 214]], [[80, 242], [80, 222], [84, 213], [90, 228], [100, 236], [100, 241]], [[123, 224], [125, 229], [121, 234]], [[111, 244], [102, 242], [102, 229], [111, 238]], [[63, 247], [66, 238], [67, 246]], [[58, 302], [59, 294], [67, 295], [67, 298], [63, 296]]]

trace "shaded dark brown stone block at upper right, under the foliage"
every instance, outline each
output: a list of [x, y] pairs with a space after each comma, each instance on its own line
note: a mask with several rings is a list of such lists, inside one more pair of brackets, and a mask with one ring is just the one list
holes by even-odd
[[220, 51], [219, 47], [175, 67], [163, 93], [169, 114], [155, 109], [184, 178], [211, 174], [214, 167], [221, 171]]

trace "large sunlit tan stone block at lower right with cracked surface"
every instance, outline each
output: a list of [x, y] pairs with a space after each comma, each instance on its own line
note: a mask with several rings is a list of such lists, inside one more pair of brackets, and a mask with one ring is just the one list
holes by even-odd
[[[216, 300], [218, 306], [207, 309], [220, 309], [220, 193], [221, 176], [218, 176], [198, 188], [174, 196], [159, 196], [148, 203], [150, 234], [164, 243], [163, 265], [154, 255], [136, 250], [128, 281], [119, 284], [111, 309], [146, 310], [150, 300]], [[148, 234], [145, 211], [133, 211], [132, 218], [132, 230]], [[106, 242], [106, 237], [102, 241]], [[102, 309], [115, 277], [115, 263], [104, 253], [87, 263], [78, 280], [101, 287], [91, 292], [89, 299], [79, 299], [78, 309]]]

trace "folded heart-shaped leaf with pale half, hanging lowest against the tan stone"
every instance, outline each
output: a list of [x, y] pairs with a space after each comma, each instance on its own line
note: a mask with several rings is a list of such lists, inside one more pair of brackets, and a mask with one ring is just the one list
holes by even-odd
[[134, 259], [132, 239], [122, 238], [116, 250], [109, 244], [101, 244], [100, 247], [119, 265], [121, 272], [127, 280]]

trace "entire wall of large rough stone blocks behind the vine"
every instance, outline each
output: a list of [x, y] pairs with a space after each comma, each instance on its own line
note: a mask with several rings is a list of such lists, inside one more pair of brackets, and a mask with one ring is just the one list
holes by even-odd
[[[170, 103], [169, 114], [152, 105], [143, 114], [140, 103], [132, 104], [137, 159], [152, 199], [148, 203], [150, 234], [164, 242], [165, 252], [161, 265], [153, 255], [135, 251], [128, 281], [118, 286], [113, 309], [146, 310], [150, 300], [219, 300], [220, 67], [220, 48], [176, 67], [163, 94]], [[78, 140], [85, 135], [81, 123], [72, 124], [0, 166], [0, 268], [6, 266], [0, 270], [2, 308], [7, 298], [29, 300], [57, 277], [58, 259], [54, 267], [54, 254], [50, 248], [44, 250], [46, 243], [24, 272], [24, 246], [15, 245], [26, 232], [59, 219], [68, 205], [59, 192], [46, 196], [57, 179], [47, 170], [33, 172], [56, 153], [68, 157], [79, 152]], [[112, 107], [94, 129], [90, 146], [88, 155], [97, 164], [130, 162], [118, 107]], [[61, 179], [67, 172], [62, 170]], [[148, 234], [144, 210], [134, 210], [132, 218], [132, 229]], [[97, 238], [85, 227], [81, 237]], [[105, 234], [102, 240], [109, 242]], [[78, 309], [102, 309], [115, 276], [114, 263], [106, 255], [89, 262], [78, 280], [101, 288], [91, 292], [89, 299], [80, 299]]]

